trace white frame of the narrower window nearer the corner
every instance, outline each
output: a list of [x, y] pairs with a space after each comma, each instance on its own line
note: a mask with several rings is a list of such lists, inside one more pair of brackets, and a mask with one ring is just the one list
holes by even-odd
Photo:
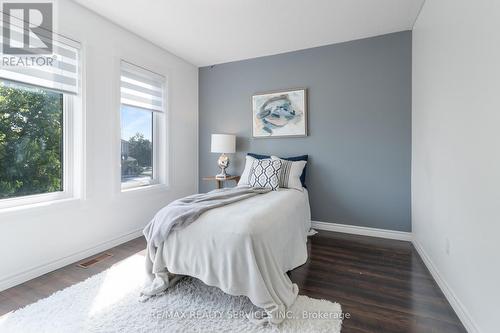
[[[151, 72], [152, 74], [159, 75], [163, 77], [163, 86], [162, 86], [162, 91], [163, 91], [163, 111], [158, 112], [154, 110], [149, 110], [149, 109], [143, 109], [144, 112], [151, 112], [152, 113], [152, 118], [153, 118], [153, 124], [152, 124], [152, 167], [153, 167], [153, 178], [150, 179], [147, 182], [144, 181], [136, 181], [136, 182], [122, 182], [121, 179], [121, 163], [119, 164], [119, 189], [122, 193], [125, 192], [131, 192], [131, 191], [137, 191], [137, 190], [148, 190], [152, 188], [166, 188], [167, 187], [167, 175], [168, 175], [168, 170], [167, 170], [167, 113], [168, 113], [168, 82], [167, 79], [164, 75], [159, 74], [153, 70], [146, 69], [145, 67], [141, 65], [137, 65], [135, 62], [131, 62], [128, 60], [120, 59], [119, 63], [121, 62], [127, 62], [131, 65], [137, 66], [138, 68], [144, 69], [146, 71]], [[120, 93], [120, 76], [121, 76], [121, 67], [119, 69], [119, 79], [118, 79], [118, 108], [119, 108], [119, 133], [120, 133], [120, 143], [121, 143], [121, 132], [122, 132], [122, 104], [121, 103], [121, 93]], [[125, 104], [126, 105], [126, 104]], [[121, 146], [120, 146], [121, 147]], [[121, 148], [119, 149], [119, 156], [120, 156], [120, 162], [121, 162]]]

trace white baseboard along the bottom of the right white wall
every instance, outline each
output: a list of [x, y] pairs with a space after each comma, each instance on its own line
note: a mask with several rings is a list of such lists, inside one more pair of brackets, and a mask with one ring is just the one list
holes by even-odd
[[420, 258], [422, 258], [422, 261], [424, 262], [425, 266], [431, 272], [432, 277], [434, 278], [434, 281], [439, 286], [439, 289], [443, 292], [444, 296], [450, 303], [451, 307], [457, 314], [458, 318], [462, 322], [462, 324], [465, 326], [465, 329], [469, 333], [479, 333], [479, 328], [477, 324], [474, 322], [472, 319], [472, 316], [470, 313], [467, 311], [465, 306], [460, 302], [458, 299], [456, 293], [451, 289], [450, 285], [446, 282], [444, 277], [439, 273], [439, 270], [437, 267], [434, 265], [432, 262], [431, 258], [429, 255], [425, 252], [424, 248], [420, 245], [420, 243], [413, 238], [412, 240], [413, 246], [417, 250], [418, 254], [420, 255]]

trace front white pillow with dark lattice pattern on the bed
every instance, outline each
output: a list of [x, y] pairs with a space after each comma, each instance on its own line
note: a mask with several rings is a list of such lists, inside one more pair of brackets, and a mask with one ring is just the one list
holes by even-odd
[[281, 160], [255, 160], [248, 176], [252, 187], [267, 187], [273, 191], [279, 188]]

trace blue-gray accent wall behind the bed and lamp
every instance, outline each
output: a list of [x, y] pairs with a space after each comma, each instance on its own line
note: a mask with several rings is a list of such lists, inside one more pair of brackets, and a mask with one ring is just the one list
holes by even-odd
[[[308, 89], [308, 136], [252, 138], [252, 95], [296, 87]], [[410, 231], [411, 32], [200, 68], [202, 192], [218, 172], [212, 133], [237, 135], [230, 174], [247, 152], [308, 154], [313, 220]]]

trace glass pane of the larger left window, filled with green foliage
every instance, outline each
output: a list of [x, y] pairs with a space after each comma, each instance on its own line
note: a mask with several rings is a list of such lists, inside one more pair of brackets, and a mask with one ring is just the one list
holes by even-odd
[[0, 199], [63, 190], [63, 94], [0, 80]]

